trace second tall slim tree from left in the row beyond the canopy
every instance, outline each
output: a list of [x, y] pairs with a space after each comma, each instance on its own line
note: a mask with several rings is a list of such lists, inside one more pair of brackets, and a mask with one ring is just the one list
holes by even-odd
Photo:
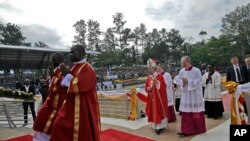
[[90, 50], [97, 50], [101, 51], [101, 48], [99, 46], [100, 39], [99, 36], [101, 35], [100, 31], [100, 24], [97, 21], [89, 20], [87, 22], [88, 25], [88, 48]]

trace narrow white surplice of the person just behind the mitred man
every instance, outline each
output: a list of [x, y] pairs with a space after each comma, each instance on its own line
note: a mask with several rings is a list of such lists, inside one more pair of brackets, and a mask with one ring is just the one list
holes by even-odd
[[173, 94], [173, 80], [170, 73], [165, 72], [163, 74], [164, 81], [167, 85], [167, 97], [168, 97], [168, 106], [174, 105], [174, 94]]

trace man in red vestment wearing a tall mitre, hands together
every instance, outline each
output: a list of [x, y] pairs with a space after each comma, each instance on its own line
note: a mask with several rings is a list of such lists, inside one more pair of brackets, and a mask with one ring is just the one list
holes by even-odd
[[148, 93], [146, 114], [148, 122], [152, 123], [152, 128], [156, 134], [160, 134], [167, 127], [168, 102], [166, 83], [161, 74], [157, 72], [154, 60], [148, 60], [150, 75], [145, 84], [145, 91]]

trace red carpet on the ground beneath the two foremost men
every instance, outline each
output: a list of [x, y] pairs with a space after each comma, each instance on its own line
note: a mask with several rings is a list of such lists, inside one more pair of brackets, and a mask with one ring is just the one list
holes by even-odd
[[[5, 141], [32, 141], [32, 135], [19, 136]], [[153, 140], [114, 129], [107, 129], [102, 131], [102, 141], [153, 141]]]

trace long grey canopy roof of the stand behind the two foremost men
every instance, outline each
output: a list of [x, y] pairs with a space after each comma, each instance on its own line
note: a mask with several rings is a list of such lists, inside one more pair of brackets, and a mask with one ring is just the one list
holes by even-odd
[[[0, 70], [47, 69], [50, 66], [50, 57], [55, 52], [65, 55], [69, 63], [69, 49], [35, 48], [0, 44]], [[100, 54], [96, 51], [86, 51], [87, 54]], [[42, 71], [41, 71], [42, 72]]]

